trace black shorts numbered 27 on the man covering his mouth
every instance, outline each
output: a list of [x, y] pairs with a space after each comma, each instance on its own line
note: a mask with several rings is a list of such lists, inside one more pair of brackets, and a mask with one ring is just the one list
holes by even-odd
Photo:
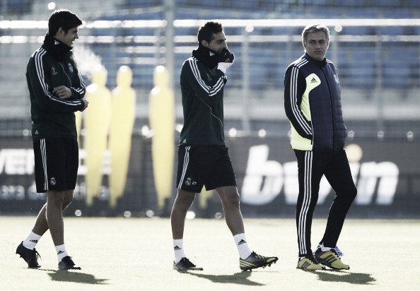
[[185, 145], [178, 149], [177, 189], [199, 193], [236, 186], [228, 148], [224, 145]]

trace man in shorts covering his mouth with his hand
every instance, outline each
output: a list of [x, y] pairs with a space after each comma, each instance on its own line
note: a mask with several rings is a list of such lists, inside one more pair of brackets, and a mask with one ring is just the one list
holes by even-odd
[[199, 47], [182, 65], [180, 78], [184, 126], [178, 150], [177, 197], [171, 213], [173, 268], [202, 270], [187, 259], [183, 234], [187, 210], [203, 186], [216, 189], [221, 199], [226, 224], [238, 248], [240, 269], [270, 266], [276, 257], [255, 254], [247, 244], [235, 172], [225, 145], [223, 88], [234, 55], [228, 51], [221, 23], [207, 22], [197, 36]]

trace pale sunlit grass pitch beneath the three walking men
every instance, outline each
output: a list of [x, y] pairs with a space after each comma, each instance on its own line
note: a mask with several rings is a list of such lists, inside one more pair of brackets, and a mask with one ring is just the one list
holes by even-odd
[[[168, 218], [65, 218], [66, 249], [81, 271], [57, 271], [49, 232], [37, 244], [42, 268], [15, 254], [33, 217], [0, 217], [0, 290], [420, 290], [419, 220], [346, 220], [339, 240], [349, 271], [296, 269], [294, 220], [245, 219], [252, 250], [279, 256], [270, 268], [241, 272], [224, 220], [187, 220], [186, 254], [204, 271], [177, 273]], [[325, 220], [313, 222], [313, 248]]]

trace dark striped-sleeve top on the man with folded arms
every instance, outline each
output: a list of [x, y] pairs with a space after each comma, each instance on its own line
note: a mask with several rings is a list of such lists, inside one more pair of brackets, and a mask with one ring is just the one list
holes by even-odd
[[[33, 141], [47, 137], [77, 138], [74, 112], [83, 110], [86, 85], [78, 73], [71, 47], [50, 35], [30, 57], [26, 71], [30, 95]], [[54, 87], [71, 89], [69, 99], [52, 93]]]

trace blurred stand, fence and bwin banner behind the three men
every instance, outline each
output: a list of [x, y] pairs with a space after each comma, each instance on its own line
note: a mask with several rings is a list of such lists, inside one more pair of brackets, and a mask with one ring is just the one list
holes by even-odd
[[[107, 179], [117, 170], [104, 162], [101, 187], [93, 205], [86, 205], [82, 154], [69, 215], [168, 215], [175, 177], [167, 181], [170, 191], [157, 193], [151, 158], [153, 71], [156, 66], [168, 70], [168, 86], [175, 96], [176, 153], [182, 127], [180, 68], [197, 47], [199, 26], [220, 20], [235, 53], [225, 89], [225, 129], [244, 215], [293, 216], [297, 167], [288, 144], [284, 72], [303, 54], [303, 28], [322, 23], [331, 31], [327, 59], [339, 71], [347, 152], [358, 186], [349, 215], [420, 217], [416, 0], [0, 0], [0, 214], [37, 213], [45, 202], [45, 196], [33, 192], [25, 70], [30, 55], [42, 44], [49, 15], [59, 8], [84, 21], [74, 52], [86, 84], [102, 65], [107, 70], [106, 87], [112, 90], [118, 69], [125, 65], [132, 69], [136, 93], [124, 195], [117, 206], [109, 205], [112, 191]], [[176, 154], [175, 160], [168, 160], [174, 173], [175, 165]], [[334, 193], [327, 183], [321, 186], [318, 204], [327, 209]], [[220, 218], [223, 213], [216, 195], [203, 192], [191, 215]]]

